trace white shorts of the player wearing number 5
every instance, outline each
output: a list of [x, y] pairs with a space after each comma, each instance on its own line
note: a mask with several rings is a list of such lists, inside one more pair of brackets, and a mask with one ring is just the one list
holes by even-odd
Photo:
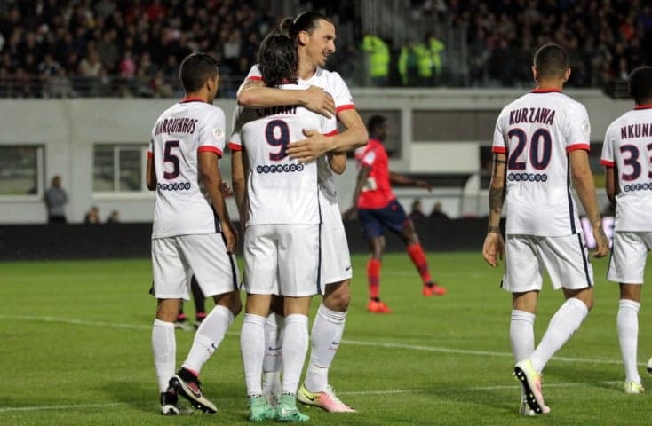
[[238, 289], [235, 256], [227, 253], [221, 233], [153, 239], [152, 269], [158, 299], [190, 300], [190, 273], [206, 297]]

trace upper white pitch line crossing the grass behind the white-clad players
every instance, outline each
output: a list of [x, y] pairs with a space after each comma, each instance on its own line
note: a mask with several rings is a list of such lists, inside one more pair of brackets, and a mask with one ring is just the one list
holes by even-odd
[[[152, 326], [144, 324], [122, 324], [117, 322], [102, 322], [102, 321], [87, 321], [83, 319], [70, 319], [70, 318], [58, 318], [50, 316], [34, 316], [34, 315], [3, 315], [0, 314], [0, 319], [20, 319], [20, 320], [29, 320], [29, 321], [44, 321], [44, 322], [56, 322], [61, 324], [72, 324], [79, 326], [90, 326], [90, 327], [114, 327], [114, 328], [130, 328], [130, 329], [139, 329], [139, 330], [150, 330]], [[228, 335], [239, 335], [238, 332], [231, 331], [227, 333]], [[497, 351], [474, 351], [468, 349], [457, 349], [457, 348], [442, 348], [438, 346], [424, 346], [418, 344], [407, 344], [407, 343], [391, 343], [391, 342], [372, 342], [372, 341], [362, 341], [362, 340], [342, 340], [344, 344], [351, 344], [356, 346], [374, 346], [388, 349], [406, 349], [409, 351], [428, 351], [428, 352], [439, 352], [439, 353], [452, 353], [457, 355], [475, 355], [481, 357], [508, 357], [512, 358], [511, 352], [497, 352]], [[592, 364], [622, 364], [621, 359], [587, 359], [587, 358], [573, 358], [573, 357], [554, 357], [553, 361], [560, 362], [584, 362]], [[638, 363], [639, 366], [645, 366], [645, 362]]]

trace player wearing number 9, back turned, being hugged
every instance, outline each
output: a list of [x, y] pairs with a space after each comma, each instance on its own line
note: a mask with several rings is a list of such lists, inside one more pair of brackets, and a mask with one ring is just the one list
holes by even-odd
[[[301, 90], [298, 53], [290, 37], [272, 33], [260, 46], [259, 69], [269, 87]], [[291, 82], [291, 83], [290, 83]], [[308, 348], [310, 300], [320, 286], [320, 209], [317, 162], [290, 159], [290, 141], [311, 129], [335, 134], [337, 122], [301, 106], [239, 108], [234, 115], [233, 181], [244, 233], [247, 303], [241, 332], [249, 420], [274, 417], [262, 393], [265, 324], [272, 295], [283, 296], [282, 394], [275, 411], [281, 422], [309, 419], [298, 411], [296, 394]], [[265, 141], [266, 143], [261, 143]], [[238, 153], [236, 146], [242, 146]], [[246, 197], [243, 193], [246, 183]]]

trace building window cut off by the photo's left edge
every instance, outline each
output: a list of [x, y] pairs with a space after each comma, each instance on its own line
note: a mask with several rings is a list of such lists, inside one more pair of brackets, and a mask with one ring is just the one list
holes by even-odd
[[0, 196], [42, 195], [43, 146], [0, 146]]

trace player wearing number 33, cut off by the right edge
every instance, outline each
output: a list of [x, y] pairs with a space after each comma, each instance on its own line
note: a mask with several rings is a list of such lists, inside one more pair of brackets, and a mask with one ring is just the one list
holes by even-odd
[[623, 354], [625, 393], [645, 391], [636, 366], [640, 288], [652, 249], [652, 67], [638, 67], [629, 77], [635, 106], [607, 129], [600, 162], [606, 167], [607, 196], [616, 209], [614, 245], [607, 279], [620, 283], [616, 324]]

